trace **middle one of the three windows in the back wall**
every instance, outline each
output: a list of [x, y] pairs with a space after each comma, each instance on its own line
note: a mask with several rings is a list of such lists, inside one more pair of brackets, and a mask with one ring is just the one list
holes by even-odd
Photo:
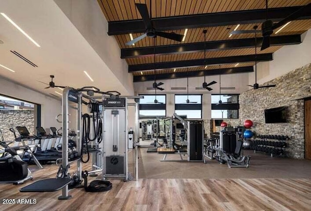
[[201, 119], [202, 95], [175, 95], [175, 113], [187, 116], [187, 119]]

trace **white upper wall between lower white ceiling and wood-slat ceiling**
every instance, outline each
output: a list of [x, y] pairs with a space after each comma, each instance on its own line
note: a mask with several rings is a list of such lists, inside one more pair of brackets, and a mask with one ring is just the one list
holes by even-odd
[[134, 95], [133, 76], [115, 37], [107, 34], [108, 22], [97, 0], [54, 1], [128, 91], [122, 95]]

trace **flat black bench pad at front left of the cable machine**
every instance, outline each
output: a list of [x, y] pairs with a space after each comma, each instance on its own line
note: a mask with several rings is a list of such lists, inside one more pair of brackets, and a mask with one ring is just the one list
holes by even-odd
[[54, 192], [59, 191], [70, 183], [69, 178], [51, 178], [36, 181], [20, 189], [20, 192]]

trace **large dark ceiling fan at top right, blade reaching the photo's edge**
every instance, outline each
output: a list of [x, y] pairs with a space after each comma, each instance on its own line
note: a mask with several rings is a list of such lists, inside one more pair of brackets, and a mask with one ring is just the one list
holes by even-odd
[[[266, 21], [264, 21], [261, 25], [261, 32], [263, 36], [261, 49], [264, 50], [270, 47], [270, 35], [273, 33], [273, 30], [287, 24], [288, 22], [297, 19], [301, 16], [302, 13], [305, 11], [311, 10], [311, 3], [307, 4], [306, 6], [300, 8], [299, 10], [295, 11], [291, 15], [285, 17], [283, 20], [273, 23], [272, 20], [268, 19], [268, 0], [266, 0]], [[242, 33], [256, 33], [256, 30], [245, 30], [245, 31], [232, 31], [230, 34], [242, 34]]]

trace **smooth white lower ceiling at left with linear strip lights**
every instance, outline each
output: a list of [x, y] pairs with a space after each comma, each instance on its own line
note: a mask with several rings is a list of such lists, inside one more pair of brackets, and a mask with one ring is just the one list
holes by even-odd
[[[55, 75], [56, 85], [82, 87], [94, 85], [103, 91], [127, 90], [115, 77], [86, 39], [52, 0], [1, 0], [0, 12], [5, 13], [28, 33], [38, 48], [3, 16], [0, 16], [0, 77], [45, 94], [55, 94], [57, 88], [44, 89], [49, 75]], [[33, 67], [10, 52], [15, 50], [38, 67]], [[93, 78], [91, 82], [84, 74]]]

